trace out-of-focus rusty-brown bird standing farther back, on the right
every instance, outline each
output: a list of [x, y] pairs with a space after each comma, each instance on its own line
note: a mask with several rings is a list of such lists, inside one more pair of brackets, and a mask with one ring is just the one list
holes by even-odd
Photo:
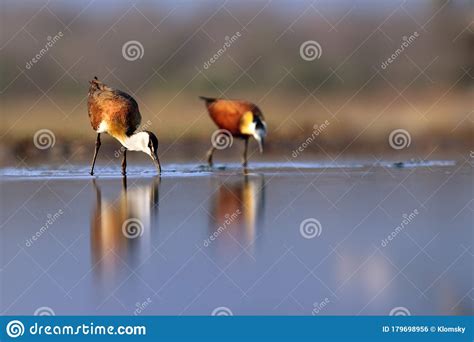
[[[220, 129], [229, 131], [232, 136], [244, 139], [245, 149], [242, 165], [247, 167], [247, 150], [249, 138], [257, 140], [260, 153], [263, 152], [263, 143], [267, 134], [267, 124], [260, 109], [253, 103], [240, 100], [215, 99], [200, 96], [206, 103], [211, 119]], [[207, 162], [212, 166], [212, 156], [216, 147], [207, 152]]]

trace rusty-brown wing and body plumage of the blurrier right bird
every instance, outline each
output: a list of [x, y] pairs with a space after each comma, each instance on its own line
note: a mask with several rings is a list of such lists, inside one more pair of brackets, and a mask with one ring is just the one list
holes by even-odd
[[240, 119], [246, 112], [253, 111], [254, 107], [250, 102], [223, 99], [207, 104], [209, 114], [217, 127], [236, 136], [241, 135]]

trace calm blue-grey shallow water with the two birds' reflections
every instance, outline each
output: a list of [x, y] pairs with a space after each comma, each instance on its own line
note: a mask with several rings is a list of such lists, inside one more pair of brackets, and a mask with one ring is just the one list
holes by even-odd
[[1, 170], [2, 314], [473, 314], [467, 163], [164, 169]]

